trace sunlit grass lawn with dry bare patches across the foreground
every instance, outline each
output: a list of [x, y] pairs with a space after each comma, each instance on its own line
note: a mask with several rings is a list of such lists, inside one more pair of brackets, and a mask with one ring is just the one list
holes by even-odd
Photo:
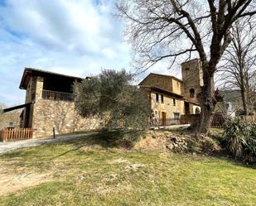
[[256, 169], [125, 151], [99, 136], [0, 156], [0, 205], [256, 205]]

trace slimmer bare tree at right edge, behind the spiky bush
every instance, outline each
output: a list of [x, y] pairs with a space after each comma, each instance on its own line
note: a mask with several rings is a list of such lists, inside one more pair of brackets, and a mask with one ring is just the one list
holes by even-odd
[[237, 21], [232, 26], [232, 41], [220, 65], [220, 80], [225, 89], [238, 89], [244, 114], [248, 115], [254, 103], [254, 77], [256, 76], [256, 32], [248, 21]]

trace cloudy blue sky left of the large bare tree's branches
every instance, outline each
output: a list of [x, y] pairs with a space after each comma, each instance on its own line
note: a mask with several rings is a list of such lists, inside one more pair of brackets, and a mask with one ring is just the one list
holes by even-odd
[[[25, 67], [79, 77], [131, 68], [112, 0], [0, 0], [0, 103], [25, 102]], [[169, 74], [164, 64], [147, 71]]]

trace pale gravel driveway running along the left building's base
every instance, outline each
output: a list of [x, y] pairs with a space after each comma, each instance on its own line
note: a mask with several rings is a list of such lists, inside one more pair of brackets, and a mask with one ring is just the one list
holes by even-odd
[[70, 139], [74, 139], [77, 137], [86, 137], [95, 134], [95, 132], [86, 133], [86, 134], [77, 134], [70, 136], [61, 136], [53, 138], [43, 138], [43, 139], [30, 139], [30, 140], [22, 140], [22, 141], [8, 141], [8, 142], [0, 142], [0, 154], [5, 153], [7, 151], [14, 151], [20, 148], [29, 147], [29, 146], [41, 146], [43, 144], [49, 144], [51, 142], [56, 141], [68, 141]]

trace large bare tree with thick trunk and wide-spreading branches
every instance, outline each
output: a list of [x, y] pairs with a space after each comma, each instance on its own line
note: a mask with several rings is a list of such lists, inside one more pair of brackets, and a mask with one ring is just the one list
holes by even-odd
[[[148, 69], [161, 60], [199, 55], [204, 86], [200, 93], [200, 124], [207, 134], [215, 111], [216, 66], [231, 41], [231, 26], [256, 13], [255, 0], [120, 0], [118, 11], [127, 20], [134, 60]], [[171, 67], [170, 62], [170, 67]]]

